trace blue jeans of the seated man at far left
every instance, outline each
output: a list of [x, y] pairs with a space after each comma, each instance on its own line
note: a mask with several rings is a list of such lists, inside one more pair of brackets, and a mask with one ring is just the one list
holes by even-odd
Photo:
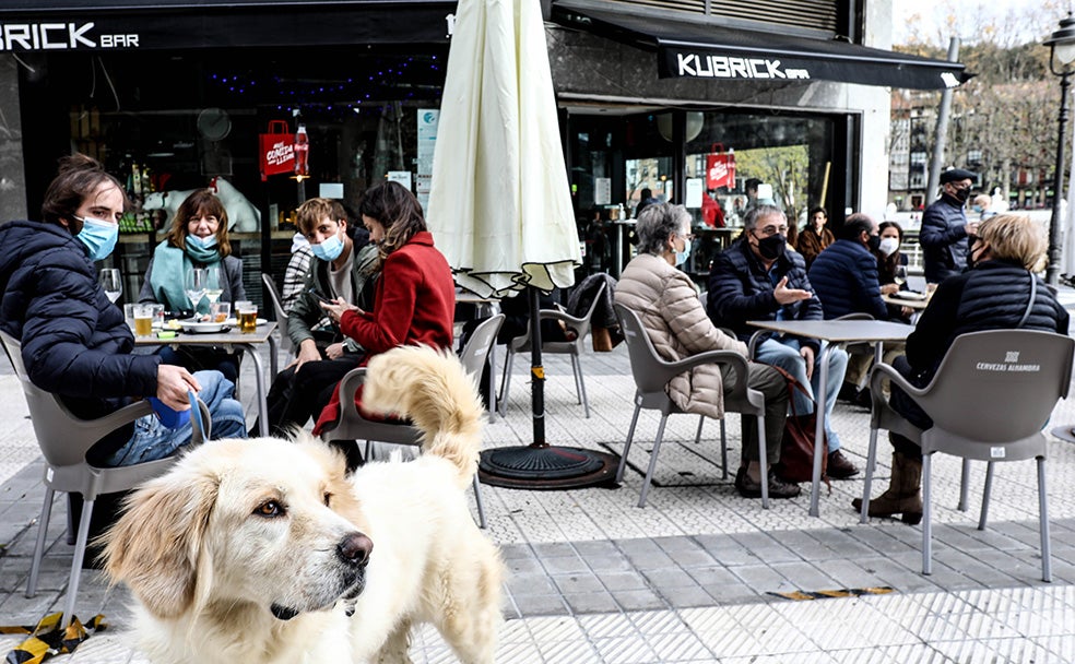
[[[202, 388], [198, 396], [209, 406], [213, 420], [213, 438], [246, 438], [243, 404], [232, 399], [235, 384], [220, 371], [197, 371], [194, 378]], [[104, 465], [133, 465], [170, 456], [190, 442], [192, 434], [189, 422], [178, 429], [169, 429], [161, 424], [156, 415], [139, 417], [134, 420], [134, 435], [123, 447], [105, 459]]]

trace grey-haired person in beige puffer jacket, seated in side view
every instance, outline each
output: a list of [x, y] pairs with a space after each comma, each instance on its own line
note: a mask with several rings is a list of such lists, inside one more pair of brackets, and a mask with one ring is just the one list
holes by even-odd
[[[682, 205], [651, 205], [638, 220], [638, 256], [624, 268], [615, 301], [638, 313], [658, 354], [676, 361], [707, 351], [733, 351], [746, 357], [746, 344], [713, 327], [690, 278], [676, 265], [690, 248], [690, 214]], [[772, 472], [780, 460], [780, 440], [788, 416], [788, 386], [783, 376], [765, 365], [748, 364], [747, 384], [765, 395], [766, 460], [769, 496], [792, 498], [800, 487]], [[684, 412], [713, 419], [724, 416], [725, 384], [716, 364], [695, 367], [673, 378], [665, 391]], [[735, 488], [747, 498], [761, 496], [757, 420], [743, 417], [742, 462]]]

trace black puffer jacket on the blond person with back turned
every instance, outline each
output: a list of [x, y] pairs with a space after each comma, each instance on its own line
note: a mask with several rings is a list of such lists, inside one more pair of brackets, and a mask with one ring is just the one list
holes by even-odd
[[1037, 280], [1037, 294], [1021, 329], [1067, 334], [1068, 313], [1044, 282], [1020, 265], [985, 261], [937, 286], [907, 337], [907, 361], [914, 375], [924, 381], [932, 379], [960, 334], [1014, 329], [1030, 301], [1031, 278]]

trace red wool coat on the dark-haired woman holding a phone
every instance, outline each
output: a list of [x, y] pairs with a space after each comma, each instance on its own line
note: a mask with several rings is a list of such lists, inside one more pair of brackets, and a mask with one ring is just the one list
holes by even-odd
[[[369, 358], [395, 346], [450, 348], [456, 316], [456, 283], [451, 268], [433, 246], [433, 235], [415, 233], [385, 259], [373, 311], [345, 311], [340, 330], [366, 349]], [[362, 391], [355, 396], [361, 404]], [[340, 386], [321, 411], [314, 434], [340, 418]]]

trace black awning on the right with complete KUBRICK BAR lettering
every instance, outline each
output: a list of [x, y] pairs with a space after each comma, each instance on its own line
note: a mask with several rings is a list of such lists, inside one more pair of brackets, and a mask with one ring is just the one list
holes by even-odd
[[657, 50], [662, 79], [824, 80], [917, 90], [955, 87], [970, 79], [958, 62], [933, 60], [832, 39], [812, 39], [699, 22], [612, 13], [569, 3], [553, 20]]

